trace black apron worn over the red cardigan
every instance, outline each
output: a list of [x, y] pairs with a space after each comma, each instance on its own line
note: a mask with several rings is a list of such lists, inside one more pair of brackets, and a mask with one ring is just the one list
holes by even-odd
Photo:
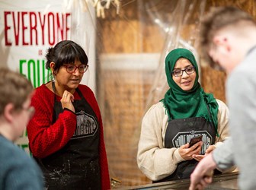
[[[98, 119], [81, 91], [78, 88], [76, 91], [81, 100], [73, 102], [77, 121], [74, 135], [62, 149], [43, 159], [36, 159], [49, 190], [101, 189]], [[53, 123], [61, 112], [62, 105], [55, 96]]]

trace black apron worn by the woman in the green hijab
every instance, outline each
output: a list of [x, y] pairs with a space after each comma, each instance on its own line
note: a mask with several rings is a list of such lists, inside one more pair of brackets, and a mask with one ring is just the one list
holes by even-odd
[[[168, 122], [165, 132], [165, 148], [181, 147], [197, 135], [203, 135], [203, 146], [200, 154], [205, 154], [207, 147], [215, 143], [216, 131], [213, 125], [203, 117], [172, 119]], [[170, 176], [155, 182], [166, 182], [177, 179], [188, 179], [194, 168], [197, 166], [197, 160], [185, 160], [178, 163], [177, 169]]]

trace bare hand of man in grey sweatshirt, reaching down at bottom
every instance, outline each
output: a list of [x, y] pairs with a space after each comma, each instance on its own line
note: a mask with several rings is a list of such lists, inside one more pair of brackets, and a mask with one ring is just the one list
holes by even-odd
[[216, 169], [216, 163], [213, 160], [213, 154], [210, 153], [197, 164], [191, 173], [189, 190], [204, 189], [213, 180], [213, 169]]

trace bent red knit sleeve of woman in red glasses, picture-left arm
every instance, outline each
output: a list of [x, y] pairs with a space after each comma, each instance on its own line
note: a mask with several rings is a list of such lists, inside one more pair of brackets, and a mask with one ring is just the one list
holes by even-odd
[[75, 113], [65, 109], [53, 120], [53, 94], [46, 91], [46, 87], [35, 90], [31, 106], [35, 108], [35, 115], [27, 125], [27, 137], [34, 157], [43, 158], [64, 147], [76, 127]]

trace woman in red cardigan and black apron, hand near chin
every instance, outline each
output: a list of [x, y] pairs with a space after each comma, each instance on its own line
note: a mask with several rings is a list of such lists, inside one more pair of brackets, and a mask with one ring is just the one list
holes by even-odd
[[48, 49], [53, 81], [35, 90], [36, 109], [27, 126], [30, 150], [43, 170], [47, 189], [109, 189], [101, 112], [92, 90], [80, 84], [88, 57], [64, 40]]

